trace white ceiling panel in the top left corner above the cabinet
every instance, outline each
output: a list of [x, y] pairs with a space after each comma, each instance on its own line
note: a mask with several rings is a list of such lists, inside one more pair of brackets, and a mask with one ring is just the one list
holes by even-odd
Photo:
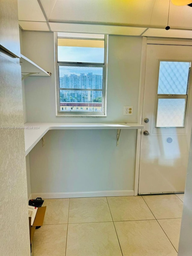
[[46, 21], [37, 0], [18, 0], [19, 20]]

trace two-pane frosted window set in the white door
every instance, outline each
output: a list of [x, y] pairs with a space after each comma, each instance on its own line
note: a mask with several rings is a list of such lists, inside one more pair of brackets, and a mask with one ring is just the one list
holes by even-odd
[[184, 127], [190, 62], [160, 61], [156, 127]]

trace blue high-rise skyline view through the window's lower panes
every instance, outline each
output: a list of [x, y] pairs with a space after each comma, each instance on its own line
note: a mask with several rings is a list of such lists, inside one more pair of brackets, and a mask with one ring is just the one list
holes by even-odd
[[[66, 66], [59, 66], [59, 73], [64, 70]], [[67, 67], [68, 68], [68, 67]], [[102, 106], [102, 88], [103, 88], [103, 68], [90, 68], [90, 67], [69, 67], [69, 68], [78, 68], [84, 73], [79, 75], [73, 74], [64, 74], [59, 76], [59, 88], [65, 88], [64, 90], [60, 89], [60, 106], [61, 103], [74, 103], [76, 111], [94, 111], [94, 107], [87, 108], [89, 103], [99, 103]], [[96, 69], [96, 72], [95, 72]], [[86, 71], [86, 73], [85, 73]], [[93, 71], [93, 72], [88, 72]], [[99, 72], [98, 72], [99, 71]], [[95, 74], [96, 73], [96, 74]], [[99, 74], [100, 73], [100, 74]], [[77, 89], [77, 90], [74, 90]], [[85, 89], [85, 90], [78, 90]], [[86, 90], [89, 89], [89, 90]], [[93, 89], [90, 90], [90, 89]], [[84, 103], [84, 107], [77, 108], [77, 103]], [[74, 111], [74, 107], [71, 104], [68, 104], [70, 107], [61, 108], [61, 111]], [[80, 106], [80, 105], [79, 105]], [[85, 108], [86, 107], [86, 108]], [[98, 107], [96, 108], [98, 110]], [[101, 109], [101, 107], [99, 108]]]

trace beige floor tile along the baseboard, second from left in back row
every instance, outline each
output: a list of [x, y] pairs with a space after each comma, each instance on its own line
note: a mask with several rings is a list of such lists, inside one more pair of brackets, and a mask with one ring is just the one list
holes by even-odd
[[70, 198], [69, 222], [112, 221], [106, 197]]

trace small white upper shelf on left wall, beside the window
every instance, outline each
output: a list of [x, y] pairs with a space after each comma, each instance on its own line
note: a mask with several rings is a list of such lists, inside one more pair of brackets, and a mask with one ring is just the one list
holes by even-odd
[[21, 54], [20, 58], [22, 80], [28, 76], [43, 76], [50, 77], [51, 73], [46, 72], [43, 68], [40, 68], [34, 62]]

